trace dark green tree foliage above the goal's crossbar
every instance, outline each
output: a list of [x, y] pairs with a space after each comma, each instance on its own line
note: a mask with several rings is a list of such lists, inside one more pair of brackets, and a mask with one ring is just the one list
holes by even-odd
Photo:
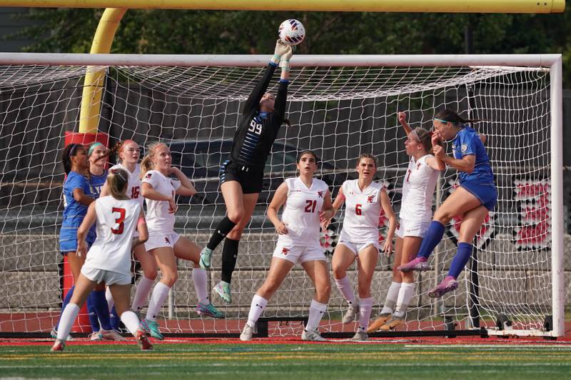
[[[21, 35], [26, 51], [89, 52], [101, 9], [34, 9]], [[398, 14], [276, 11], [127, 11], [111, 51], [140, 54], [266, 54], [277, 27], [300, 19], [308, 37], [300, 54], [463, 54], [465, 28], [475, 54], [562, 53], [571, 45], [564, 14]], [[570, 58], [565, 57], [570, 63]], [[571, 65], [565, 81], [571, 84]]]

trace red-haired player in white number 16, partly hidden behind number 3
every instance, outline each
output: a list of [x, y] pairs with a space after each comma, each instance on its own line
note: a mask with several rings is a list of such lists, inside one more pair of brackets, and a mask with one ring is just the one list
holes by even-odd
[[[128, 173], [127, 196], [139, 201], [142, 208], [144, 198], [141, 195], [141, 165], [138, 164], [141, 152], [138, 144], [129, 139], [120, 141], [113, 147], [113, 149], [111, 149], [111, 154], [113, 154], [113, 152], [117, 153], [119, 164], [112, 166], [111, 169], [123, 169]], [[103, 186], [101, 195], [106, 194], [106, 186]], [[138, 281], [136, 286], [135, 296], [133, 297], [131, 307], [137, 314], [140, 314], [141, 309], [146, 305], [148, 294], [153, 288], [153, 284], [157, 276], [157, 264], [154, 257], [146, 251], [144, 244], [133, 247], [133, 254], [135, 254], [136, 259], [141, 264], [143, 276], [141, 276], [141, 279]], [[109, 309], [111, 310], [113, 307], [113, 298], [110, 297], [109, 294], [106, 294], [106, 296]], [[112, 314], [112, 322], [116, 321], [113, 316], [114, 315]]]

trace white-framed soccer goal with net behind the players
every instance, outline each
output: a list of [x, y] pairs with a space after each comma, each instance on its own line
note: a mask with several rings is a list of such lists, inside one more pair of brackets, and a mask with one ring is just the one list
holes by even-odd
[[[198, 190], [192, 199], [178, 199], [176, 231], [204, 246], [225, 212], [218, 168], [230, 151], [242, 103], [268, 58], [0, 54], [1, 334], [46, 332], [59, 315], [64, 180], [59, 156], [66, 134], [109, 146], [122, 139], [171, 146], [173, 165]], [[179, 261], [178, 281], [159, 318], [163, 331], [239, 334], [277, 239], [266, 207], [283, 179], [295, 176], [298, 151], [318, 154], [319, 176], [333, 195], [345, 179], [355, 178], [360, 153], [375, 154], [377, 179], [388, 186], [398, 211], [408, 156], [397, 112], [407, 111], [411, 126], [430, 129], [435, 113], [450, 108], [485, 120], [475, 129], [487, 137], [499, 199], [475, 239], [458, 290], [435, 300], [428, 298], [428, 289], [448, 270], [461, 216], [447, 226], [430, 261], [433, 270], [415, 275], [407, 324], [396, 333], [564, 334], [560, 55], [294, 56], [291, 64], [286, 112], [291, 126], [283, 126], [273, 146], [264, 191], [243, 235], [233, 304], [213, 296], [226, 319], [196, 314], [193, 266]], [[86, 99], [86, 75], [101, 72], [104, 79], [88, 91], [98, 95]], [[270, 91], [277, 82], [276, 74]], [[89, 117], [95, 118], [96, 134], [79, 131], [82, 96], [84, 107], [95, 107]], [[455, 170], [443, 172], [435, 205], [454, 191], [456, 179]], [[383, 219], [380, 224], [384, 239]], [[337, 222], [323, 234], [329, 259], [338, 231]], [[220, 266], [221, 252], [215, 251], [212, 286]], [[380, 259], [372, 289], [377, 306], [385, 299], [392, 267], [392, 257]], [[354, 267], [349, 273], [355, 279]], [[310, 279], [295, 267], [269, 302], [261, 330], [271, 336], [300, 334], [312, 297]], [[324, 336], [355, 331], [353, 324], [341, 323], [345, 308], [333, 289], [320, 325]]]

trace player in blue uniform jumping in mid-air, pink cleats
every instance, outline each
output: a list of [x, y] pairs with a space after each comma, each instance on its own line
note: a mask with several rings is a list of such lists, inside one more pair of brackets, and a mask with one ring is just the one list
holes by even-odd
[[459, 171], [460, 186], [436, 210], [416, 258], [399, 269], [404, 272], [428, 270], [428, 256], [442, 239], [445, 225], [454, 216], [463, 215], [463, 220], [458, 251], [450, 264], [448, 276], [428, 292], [430, 297], [440, 297], [458, 288], [457, 279], [472, 254], [474, 236], [497, 201], [490, 159], [480, 135], [468, 125], [475, 121], [465, 120], [450, 109], [440, 111], [433, 120], [435, 134], [442, 139], [453, 140], [453, 156], [445, 154], [444, 148], [438, 145], [434, 146], [434, 155]]

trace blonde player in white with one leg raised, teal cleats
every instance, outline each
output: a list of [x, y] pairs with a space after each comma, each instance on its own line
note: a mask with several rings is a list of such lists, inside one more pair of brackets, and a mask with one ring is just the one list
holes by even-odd
[[[184, 236], [174, 231], [177, 206], [175, 194], [192, 196], [196, 190], [191, 180], [183, 174], [181, 169], [171, 166], [171, 151], [165, 144], [152, 144], [149, 146], [147, 156], [141, 161], [143, 184], [141, 194], [147, 204], [148, 241], [145, 249], [152, 254], [161, 269], [161, 280], [155, 285], [151, 300], [148, 302], [147, 314], [144, 323], [151, 331], [151, 336], [163, 339], [156, 321], [158, 311], [163, 306], [168, 291], [178, 278], [176, 258], [193, 261], [192, 277], [198, 304], [198, 314], [223, 318], [210, 302], [208, 296], [208, 277], [205, 269], [201, 269], [201, 249]], [[177, 179], [168, 176], [173, 174]]]

